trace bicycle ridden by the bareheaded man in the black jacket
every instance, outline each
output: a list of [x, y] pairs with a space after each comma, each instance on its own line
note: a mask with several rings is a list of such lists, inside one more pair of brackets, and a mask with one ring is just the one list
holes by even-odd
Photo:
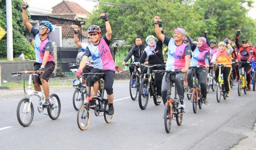
[[136, 100], [138, 92], [139, 92], [140, 81], [142, 79], [142, 75], [138, 71], [138, 68], [135, 65], [135, 63], [125, 64], [125, 66], [134, 66], [134, 71], [132, 72], [132, 75], [130, 77], [129, 91], [130, 91], [131, 99]]

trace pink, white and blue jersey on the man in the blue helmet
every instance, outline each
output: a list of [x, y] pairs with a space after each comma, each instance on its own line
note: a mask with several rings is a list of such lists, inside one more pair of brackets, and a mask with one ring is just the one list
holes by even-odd
[[41, 40], [39, 30], [32, 27], [31, 33], [35, 37], [35, 44], [34, 44], [34, 50], [35, 50], [35, 61], [38, 63], [42, 63], [45, 55], [45, 51], [49, 51], [50, 55], [48, 57], [47, 62], [55, 62], [53, 54], [52, 54], [52, 42], [49, 38], [49, 36], [45, 40]]

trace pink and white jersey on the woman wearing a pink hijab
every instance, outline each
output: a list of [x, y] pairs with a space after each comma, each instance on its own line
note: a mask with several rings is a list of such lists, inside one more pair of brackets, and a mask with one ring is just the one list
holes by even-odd
[[210, 62], [210, 53], [208, 51], [202, 51], [200, 52], [198, 47], [196, 46], [196, 49], [192, 52], [192, 58], [190, 61], [190, 66], [198, 66], [198, 65], [205, 65], [205, 60], [208, 59], [208, 62]]

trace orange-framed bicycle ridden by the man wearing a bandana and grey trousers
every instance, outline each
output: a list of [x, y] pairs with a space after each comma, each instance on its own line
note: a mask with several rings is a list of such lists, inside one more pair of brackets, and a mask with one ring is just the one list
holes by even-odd
[[171, 98], [171, 90], [170, 90], [170, 82], [175, 82], [175, 78], [177, 74], [184, 73], [181, 72], [181, 70], [172, 70], [172, 71], [165, 71], [165, 70], [153, 70], [153, 72], [166, 72], [166, 78], [167, 79], [167, 101], [165, 103], [165, 110], [163, 114], [163, 120], [165, 125], [165, 131], [166, 133], [170, 133], [171, 125], [172, 125], [172, 119], [173, 117], [176, 119], [176, 123], [178, 126], [181, 125], [182, 119], [183, 119], [183, 108], [178, 108], [178, 100], [177, 100], [177, 86], [175, 86], [175, 92], [174, 92], [174, 99]]

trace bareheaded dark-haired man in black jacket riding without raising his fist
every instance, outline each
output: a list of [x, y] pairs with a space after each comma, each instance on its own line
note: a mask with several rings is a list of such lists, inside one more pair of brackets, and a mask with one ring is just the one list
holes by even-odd
[[[132, 55], [134, 56], [134, 62], [138, 62], [140, 59], [140, 56], [144, 52], [145, 48], [146, 48], [146, 45], [144, 43], [142, 43], [142, 37], [137, 36], [135, 38], [135, 46], [133, 46], [132, 49], [129, 51], [129, 53], [125, 57], [122, 65], [124, 66], [125, 63], [132, 57]], [[143, 62], [144, 62], [144, 60], [143, 60]], [[143, 70], [143, 68], [144, 68], [144, 66], [141, 67], [141, 70]], [[134, 70], [134, 67], [129, 66], [130, 76], [132, 75], [133, 70]]]

